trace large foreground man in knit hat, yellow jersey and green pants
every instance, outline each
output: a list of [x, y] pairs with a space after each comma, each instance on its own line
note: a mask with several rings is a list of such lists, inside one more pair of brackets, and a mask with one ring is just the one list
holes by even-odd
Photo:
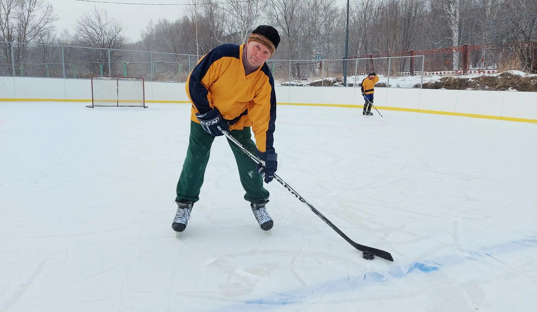
[[[228, 140], [246, 192], [244, 199], [250, 202], [259, 226], [265, 231], [272, 228], [274, 223], [265, 207], [269, 191], [263, 187], [263, 180], [271, 182], [278, 167], [278, 154], [273, 147], [276, 95], [265, 61], [279, 43], [280, 35], [274, 27], [260, 25], [250, 34], [248, 43], [215, 47], [188, 76], [186, 93], [192, 104], [190, 142], [177, 183], [173, 230], [182, 232], [186, 228], [192, 207], [199, 200], [211, 144], [215, 136], [222, 135], [221, 130], [229, 130], [265, 162], [265, 166], [256, 168], [256, 163]], [[251, 139], [250, 128], [256, 143]]]

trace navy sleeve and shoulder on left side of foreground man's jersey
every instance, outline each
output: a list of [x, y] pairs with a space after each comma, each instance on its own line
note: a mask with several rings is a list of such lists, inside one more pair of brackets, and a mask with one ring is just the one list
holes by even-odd
[[209, 100], [207, 99], [209, 90], [201, 83], [201, 79], [205, 77], [207, 71], [215, 61], [226, 56], [239, 59], [239, 46], [233, 43], [224, 43], [215, 47], [205, 55], [190, 73], [190, 77], [188, 78], [188, 93], [190, 93], [192, 103], [200, 113], [211, 111], [211, 106], [209, 106]]

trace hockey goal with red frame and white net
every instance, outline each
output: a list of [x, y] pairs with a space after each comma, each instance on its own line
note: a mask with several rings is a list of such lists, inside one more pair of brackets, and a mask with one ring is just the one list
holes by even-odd
[[137, 106], [146, 108], [143, 78], [139, 77], [91, 77], [91, 105]]

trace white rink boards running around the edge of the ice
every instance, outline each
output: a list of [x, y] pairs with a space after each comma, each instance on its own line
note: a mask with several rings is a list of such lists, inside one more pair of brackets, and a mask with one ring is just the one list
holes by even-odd
[[[89, 100], [89, 79], [0, 77], [3, 90], [0, 100], [15, 98], [34, 100]], [[146, 81], [146, 101], [177, 103], [188, 101], [184, 83]], [[0, 89], [2, 90], [2, 89]], [[359, 88], [276, 86], [277, 101], [284, 104], [332, 104], [361, 107], [364, 99]], [[437, 111], [537, 119], [537, 92], [430, 90], [376, 88], [375, 107], [379, 110], [396, 107], [401, 110]], [[509, 119], [507, 119], [509, 120]]]

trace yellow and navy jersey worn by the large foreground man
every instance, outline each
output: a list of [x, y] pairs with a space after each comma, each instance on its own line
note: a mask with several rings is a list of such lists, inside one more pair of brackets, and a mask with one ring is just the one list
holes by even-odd
[[274, 79], [266, 63], [245, 76], [242, 52], [245, 45], [224, 43], [204, 55], [186, 81], [186, 94], [192, 103], [191, 120], [196, 113], [216, 107], [230, 130], [252, 127], [260, 152], [273, 148], [276, 120]]

